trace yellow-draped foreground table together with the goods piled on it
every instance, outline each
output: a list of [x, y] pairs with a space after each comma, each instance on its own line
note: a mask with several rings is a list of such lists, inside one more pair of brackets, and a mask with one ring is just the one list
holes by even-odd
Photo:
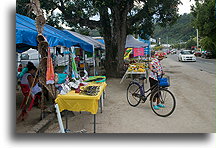
[[[81, 75], [79, 72], [84, 63], [75, 62], [74, 53], [71, 52], [71, 68], [72, 78], [56, 85], [59, 95], [55, 99], [55, 108], [59, 121], [60, 131], [65, 133], [61, 120], [60, 112], [67, 111], [86, 111], [94, 115], [94, 133], [96, 132], [96, 113], [98, 111], [98, 103], [100, 103], [101, 113], [103, 107], [104, 92], [106, 88], [105, 76], [88, 76]], [[66, 125], [68, 125], [66, 120]], [[66, 127], [67, 129], [67, 127]], [[67, 130], [66, 130], [67, 131]]]

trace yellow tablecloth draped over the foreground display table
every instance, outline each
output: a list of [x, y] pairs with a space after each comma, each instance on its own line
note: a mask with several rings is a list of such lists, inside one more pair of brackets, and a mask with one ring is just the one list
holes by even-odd
[[58, 104], [60, 112], [63, 110], [69, 110], [77, 112], [87, 111], [96, 114], [98, 111], [98, 100], [107, 84], [105, 82], [89, 83], [88, 86], [101, 86], [100, 92], [96, 96], [89, 96], [75, 93], [75, 91], [72, 90], [66, 95], [58, 95], [55, 99], [55, 103]]

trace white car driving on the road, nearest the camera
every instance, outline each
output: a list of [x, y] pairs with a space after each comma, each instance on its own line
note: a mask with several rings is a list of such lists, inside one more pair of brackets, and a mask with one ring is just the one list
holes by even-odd
[[194, 61], [196, 62], [196, 56], [192, 53], [191, 50], [182, 50], [178, 55], [179, 61]]

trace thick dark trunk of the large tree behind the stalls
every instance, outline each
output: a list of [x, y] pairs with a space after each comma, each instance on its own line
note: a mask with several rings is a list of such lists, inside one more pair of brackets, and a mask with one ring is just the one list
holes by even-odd
[[121, 77], [124, 74], [124, 48], [127, 33], [128, 10], [114, 7], [112, 10], [111, 38], [104, 35], [106, 44], [105, 69], [108, 77]]

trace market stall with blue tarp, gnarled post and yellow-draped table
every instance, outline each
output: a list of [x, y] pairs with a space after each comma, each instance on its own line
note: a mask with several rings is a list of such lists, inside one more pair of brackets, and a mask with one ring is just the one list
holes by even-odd
[[[56, 78], [60, 79], [61, 74], [56, 74], [56, 73], [54, 74], [52, 57], [50, 53], [50, 47], [57, 46], [57, 45], [61, 45], [67, 48], [71, 48], [71, 46], [79, 46], [85, 51], [94, 52], [94, 45], [84, 40], [80, 40], [77, 37], [68, 36], [66, 35], [65, 32], [61, 30], [57, 30], [54, 27], [51, 27], [49, 25], [46, 25], [41, 12], [39, 11], [36, 14], [37, 14], [36, 20], [39, 20], [39, 22], [34, 21], [26, 16], [16, 14], [17, 52], [22, 53], [27, 49], [29, 49], [29, 47], [35, 47], [38, 49], [41, 58], [40, 58], [40, 64], [36, 76], [37, 75], [39, 76], [39, 82], [40, 84], [42, 84], [42, 90], [47, 89], [48, 92], [51, 94], [52, 98], [56, 98], [55, 107], [58, 113], [57, 114], [58, 119], [61, 118], [60, 112], [63, 110], [90, 112], [94, 115], [94, 132], [95, 132], [96, 131], [95, 122], [96, 122], [96, 113], [98, 111], [98, 103], [100, 102], [100, 108], [102, 112], [106, 83], [99, 82], [99, 81], [88, 82], [87, 81], [88, 79], [86, 78], [84, 80], [84, 77], [82, 77], [77, 70], [77, 69], [82, 69], [83, 67], [80, 66], [78, 68], [78, 66], [76, 65], [77, 63], [75, 62], [75, 56], [73, 56], [72, 52], [67, 53], [67, 54], [72, 54], [72, 57], [70, 58], [72, 59], [72, 61], [69, 62], [69, 65], [72, 65], [72, 69], [69, 69], [69, 72], [66, 75], [68, 75], [69, 77], [72, 76], [72, 79], [79, 82], [78, 87], [77, 86], [74, 87], [74, 85], [71, 84], [72, 83], [70, 81], [71, 79], [69, 79], [67, 76], [64, 77], [64, 81], [62, 81], [62, 83], [60, 83], [59, 80], [56, 81]], [[43, 22], [41, 23], [40, 21]], [[31, 38], [27, 38], [27, 36], [30, 36]], [[80, 62], [79, 65], [82, 65], [82, 63]], [[72, 72], [72, 74], [70, 72]], [[76, 77], [77, 75], [78, 77]], [[68, 85], [69, 83], [71, 85]], [[67, 89], [68, 92], [65, 89]], [[96, 89], [95, 92], [94, 89]], [[31, 92], [31, 88], [30, 88], [30, 92]], [[41, 104], [44, 104], [43, 94], [44, 93], [42, 92]], [[27, 101], [25, 105], [27, 105], [28, 103], [28, 100], [30, 98], [29, 96], [30, 95], [28, 95], [26, 99]], [[26, 110], [25, 107], [21, 108], [22, 113], [25, 110]], [[41, 109], [42, 118], [44, 116], [43, 112], [44, 109]], [[23, 114], [21, 114], [20, 117], [24, 118]], [[62, 125], [60, 126], [60, 128], [61, 127]]]

